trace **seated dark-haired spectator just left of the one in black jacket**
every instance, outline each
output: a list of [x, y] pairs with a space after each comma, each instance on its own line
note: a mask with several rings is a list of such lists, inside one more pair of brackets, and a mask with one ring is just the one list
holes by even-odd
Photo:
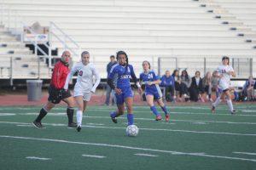
[[182, 99], [189, 99], [189, 87], [191, 85], [191, 77], [189, 77], [186, 70], [182, 71], [181, 75], [181, 97]]

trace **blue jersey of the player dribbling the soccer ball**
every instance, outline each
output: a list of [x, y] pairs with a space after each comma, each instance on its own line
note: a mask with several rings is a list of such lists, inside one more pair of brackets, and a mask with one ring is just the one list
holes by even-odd
[[115, 76], [117, 77], [117, 88], [131, 87], [130, 79], [136, 79], [132, 65], [126, 67], [119, 63], [112, 66], [108, 78], [113, 80]]

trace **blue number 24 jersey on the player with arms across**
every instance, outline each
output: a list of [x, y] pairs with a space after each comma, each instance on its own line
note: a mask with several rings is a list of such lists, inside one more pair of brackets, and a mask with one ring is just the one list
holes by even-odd
[[140, 74], [140, 81], [145, 84], [145, 91], [156, 91], [159, 88], [158, 84], [148, 85], [147, 82], [154, 82], [159, 80], [160, 78], [155, 75], [154, 71], [149, 71], [148, 73], [141, 73]]

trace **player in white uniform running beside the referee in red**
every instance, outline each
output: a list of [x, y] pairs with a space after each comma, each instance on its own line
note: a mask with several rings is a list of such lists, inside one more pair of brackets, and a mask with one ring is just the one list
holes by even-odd
[[[67, 76], [64, 89], [67, 90], [68, 82], [72, 79], [73, 75], [78, 72], [77, 82], [74, 87], [74, 98], [79, 106], [77, 111], [77, 130], [80, 132], [82, 127], [83, 112], [86, 109], [87, 102], [90, 101], [91, 93], [95, 93], [97, 86], [101, 82], [101, 77], [96, 70], [95, 66], [90, 63], [90, 54], [84, 51], [81, 54], [81, 62], [73, 66], [72, 70]], [[93, 85], [93, 77], [96, 77], [96, 82]]]

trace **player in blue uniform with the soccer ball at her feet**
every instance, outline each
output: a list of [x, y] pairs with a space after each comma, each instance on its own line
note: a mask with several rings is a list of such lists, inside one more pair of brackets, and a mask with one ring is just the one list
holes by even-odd
[[[115, 91], [116, 103], [118, 110], [110, 113], [110, 117], [114, 123], [117, 123], [117, 117], [125, 112], [125, 105], [127, 107], [128, 126], [133, 124], [132, 103], [133, 93], [131, 91], [130, 79], [136, 83], [138, 92], [142, 92], [142, 88], [137, 82], [137, 77], [133, 71], [132, 65], [128, 63], [128, 56], [124, 51], [119, 51], [116, 54], [118, 63], [113, 65], [108, 75], [108, 85]], [[117, 77], [116, 84], [113, 83]]]

